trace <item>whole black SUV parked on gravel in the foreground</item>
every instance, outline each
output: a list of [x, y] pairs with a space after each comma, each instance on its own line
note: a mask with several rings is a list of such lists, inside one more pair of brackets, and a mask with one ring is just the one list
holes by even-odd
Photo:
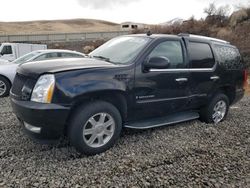
[[123, 127], [147, 129], [200, 118], [219, 123], [244, 95], [238, 49], [196, 35], [128, 35], [88, 58], [25, 63], [11, 90], [33, 138], [67, 136], [81, 153], [110, 148]]

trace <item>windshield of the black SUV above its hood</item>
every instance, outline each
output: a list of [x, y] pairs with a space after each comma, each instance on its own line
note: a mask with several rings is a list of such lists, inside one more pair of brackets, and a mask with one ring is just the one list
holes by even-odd
[[134, 59], [150, 40], [138, 36], [117, 37], [91, 52], [89, 56], [111, 63], [126, 64]]

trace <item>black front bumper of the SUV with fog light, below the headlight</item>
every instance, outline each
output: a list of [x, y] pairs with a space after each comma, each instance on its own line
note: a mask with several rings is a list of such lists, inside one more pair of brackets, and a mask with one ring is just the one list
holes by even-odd
[[11, 98], [11, 105], [21, 124], [26, 124], [25, 132], [35, 140], [44, 143], [53, 142], [64, 134], [69, 107], [18, 101], [13, 98]]

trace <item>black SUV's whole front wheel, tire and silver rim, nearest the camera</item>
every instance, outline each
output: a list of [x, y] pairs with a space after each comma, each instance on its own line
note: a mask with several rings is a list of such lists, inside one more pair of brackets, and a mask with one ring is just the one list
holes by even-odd
[[95, 155], [111, 148], [121, 130], [122, 119], [117, 108], [108, 102], [95, 101], [76, 110], [68, 127], [68, 136], [77, 151]]

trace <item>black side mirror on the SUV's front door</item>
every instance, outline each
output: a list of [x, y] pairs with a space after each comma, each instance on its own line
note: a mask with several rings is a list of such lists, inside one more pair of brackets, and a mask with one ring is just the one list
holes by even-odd
[[170, 60], [167, 57], [151, 57], [147, 62], [144, 63], [144, 67], [149, 69], [167, 69], [170, 66]]

